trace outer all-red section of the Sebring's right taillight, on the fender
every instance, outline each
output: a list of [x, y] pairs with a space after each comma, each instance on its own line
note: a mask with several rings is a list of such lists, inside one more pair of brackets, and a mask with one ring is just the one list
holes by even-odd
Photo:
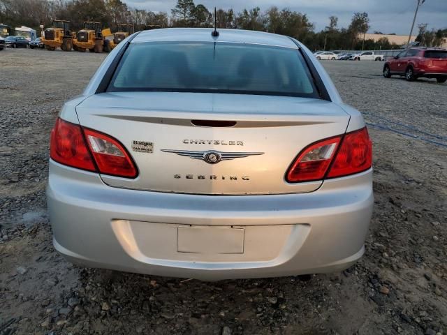
[[371, 168], [372, 142], [367, 128], [347, 133], [332, 163], [328, 178], [343, 177]]

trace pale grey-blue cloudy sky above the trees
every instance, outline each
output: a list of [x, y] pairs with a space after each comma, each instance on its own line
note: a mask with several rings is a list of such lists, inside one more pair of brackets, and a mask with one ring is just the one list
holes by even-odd
[[[128, 6], [138, 9], [164, 11], [170, 14], [170, 9], [176, 0], [123, 0]], [[367, 12], [369, 15], [369, 32], [381, 31], [383, 34], [408, 35], [416, 10], [417, 0], [195, 0], [196, 5], [202, 3], [208, 9], [233, 8], [240, 12], [244, 8], [260, 7], [261, 10], [270, 6], [290, 8], [308, 15], [314, 23], [316, 31], [328, 25], [328, 17], [339, 18], [339, 27], [349, 26], [355, 12]], [[418, 24], [427, 23], [429, 29], [447, 28], [447, 0], [426, 0], [419, 7], [415, 31]], [[413, 31], [414, 33], [414, 31]]]

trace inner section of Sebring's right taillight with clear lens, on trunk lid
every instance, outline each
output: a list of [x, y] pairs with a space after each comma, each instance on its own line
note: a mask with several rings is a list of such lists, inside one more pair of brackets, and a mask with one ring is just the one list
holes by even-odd
[[295, 159], [287, 173], [289, 183], [323, 179], [342, 136], [311, 144]]

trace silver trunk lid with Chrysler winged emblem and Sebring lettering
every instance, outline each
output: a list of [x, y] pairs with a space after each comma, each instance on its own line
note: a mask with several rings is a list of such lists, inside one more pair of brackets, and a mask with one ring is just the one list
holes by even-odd
[[288, 167], [349, 123], [328, 101], [244, 94], [105, 93], [76, 110], [82, 126], [115, 137], [138, 167], [135, 179], [102, 174], [105, 184], [210, 195], [315, 191], [322, 181], [287, 183]]

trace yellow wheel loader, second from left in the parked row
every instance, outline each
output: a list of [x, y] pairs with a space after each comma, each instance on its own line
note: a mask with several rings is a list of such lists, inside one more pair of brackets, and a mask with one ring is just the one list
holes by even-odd
[[84, 22], [84, 29], [78, 31], [75, 40], [73, 40], [73, 49], [79, 52], [103, 52], [104, 36], [112, 34], [110, 29], [102, 29], [99, 22]]

